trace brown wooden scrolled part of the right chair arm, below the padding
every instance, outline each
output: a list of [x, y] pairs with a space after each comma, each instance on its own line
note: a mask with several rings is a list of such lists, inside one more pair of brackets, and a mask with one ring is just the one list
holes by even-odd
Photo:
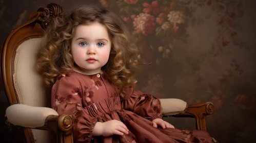
[[193, 117], [196, 122], [196, 130], [206, 130], [206, 116], [214, 112], [214, 106], [211, 102], [203, 102], [193, 105], [188, 105], [188, 108], [179, 114], [168, 115], [164, 117]]

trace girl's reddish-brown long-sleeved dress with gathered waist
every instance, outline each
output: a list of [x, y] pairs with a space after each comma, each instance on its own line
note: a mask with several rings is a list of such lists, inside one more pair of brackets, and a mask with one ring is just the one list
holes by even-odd
[[[217, 142], [206, 131], [152, 127], [152, 120], [162, 118], [159, 99], [132, 87], [120, 91], [100, 73], [61, 75], [51, 95], [52, 108], [72, 116], [75, 142]], [[96, 122], [110, 120], [123, 122], [129, 134], [92, 136]]]

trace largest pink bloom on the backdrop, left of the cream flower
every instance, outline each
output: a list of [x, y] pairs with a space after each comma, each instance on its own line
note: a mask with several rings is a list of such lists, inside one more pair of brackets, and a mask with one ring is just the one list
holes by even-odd
[[147, 36], [154, 30], [154, 19], [155, 18], [152, 15], [147, 13], [140, 13], [140, 15], [137, 15], [137, 17], [134, 18], [133, 26], [135, 27], [136, 31], [139, 31], [144, 36]]

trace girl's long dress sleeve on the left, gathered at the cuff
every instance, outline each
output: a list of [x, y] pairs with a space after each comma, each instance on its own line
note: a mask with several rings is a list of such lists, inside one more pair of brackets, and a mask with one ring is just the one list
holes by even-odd
[[83, 142], [93, 139], [92, 131], [97, 122], [82, 106], [82, 87], [80, 82], [69, 75], [60, 76], [52, 87], [51, 105], [58, 114], [69, 114], [73, 118], [73, 137]]

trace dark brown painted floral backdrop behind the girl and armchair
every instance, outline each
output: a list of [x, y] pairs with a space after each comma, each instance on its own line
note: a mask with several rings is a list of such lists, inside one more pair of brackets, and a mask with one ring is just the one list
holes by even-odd
[[[252, 142], [256, 132], [255, 1], [1, 0], [1, 42], [14, 27], [26, 22], [29, 13], [49, 3], [61, 5], [64, 12], [75, 5], [94, 3], [117, 13], [130, 29], [145, 63], [137, 72], [136, 89], [188, 104], [210, 101], [215, 112], [207, 117], [207, 130], [214, 138]], [[1, 90], [0, 142], [23, 142], [22, 136], [17, 136], [20, 129], [10, 131], [4, 124], [9, 105], [3, 86]], [[191, 118], [164, 120], [177, 128], [195, 128]]]

